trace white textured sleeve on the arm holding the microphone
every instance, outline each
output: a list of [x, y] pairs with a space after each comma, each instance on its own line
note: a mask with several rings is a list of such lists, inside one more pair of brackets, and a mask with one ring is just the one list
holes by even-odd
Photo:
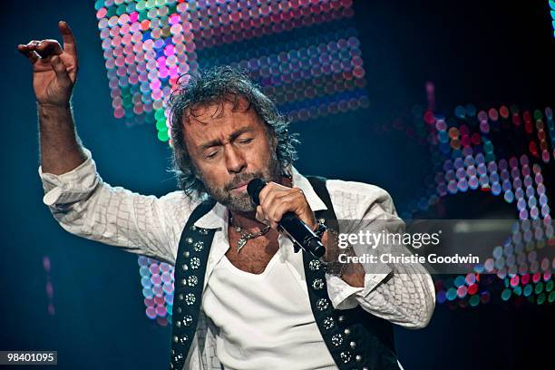
[[[328, 180], [327, 183], [337, 219], [399, 219], [393, 200], [385, 190], [351, 181]], [[367, 312], [400, 326], [426, 326], [435, 307], [433, 281], [426, 269], [417, 264], [383, 263], [372, 264], [372, 268], [372, 272], [366, 271], [365, 287], [351, 287], [340, 277], [326, 275], [334, 307], [346, 309], [360, 305]]]

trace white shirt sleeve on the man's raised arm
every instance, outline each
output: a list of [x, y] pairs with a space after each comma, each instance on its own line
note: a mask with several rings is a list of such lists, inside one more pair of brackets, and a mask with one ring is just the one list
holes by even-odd
[[182, 191], [157, 198], [112, 187], [96, 171], [91, 151], [85, 153], [86, 161], [62, 175], [39, 167], [54, 219], [77, 236], [173, 264], [193, 202]]

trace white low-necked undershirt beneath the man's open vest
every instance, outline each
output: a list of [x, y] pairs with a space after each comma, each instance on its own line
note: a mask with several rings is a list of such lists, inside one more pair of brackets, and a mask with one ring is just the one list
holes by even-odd
[[[287, 240], [288, 241], [288, 240]], [[281, 248], [293, 248], [290, 241]], [[310, 309], [307, 285], [292, 264], [302, 254], [276, 253], [261, 274], [219, 260], [202, 309], [219, 327], [216, 354], [228, 369], [337, 369]]]

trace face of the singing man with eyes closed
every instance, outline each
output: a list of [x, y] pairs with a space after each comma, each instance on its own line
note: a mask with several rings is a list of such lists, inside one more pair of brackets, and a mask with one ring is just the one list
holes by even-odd
[[195, 107], [184, 123], [185, 144], [197, 176], [209, 195], [229, 209], [255, 210], [247, 193], [249, 180], [279, 179], [275, 142], [254, 109], [239, 100]]

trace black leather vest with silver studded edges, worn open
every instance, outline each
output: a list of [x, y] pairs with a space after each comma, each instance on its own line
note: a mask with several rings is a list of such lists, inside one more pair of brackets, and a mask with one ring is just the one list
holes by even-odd
[[[316, 211], [316, 219], [325, 219], [327, 228], [337, 229], [326, 179], [307, 179], [327, 207]], [[201, 229], [194, 223], [214, 205], [213, 200], [201, 203], [193, 210], [181, 233], [174, 269], [170, 369], [182, 369], [197, 329], [209, 249], [216, 230]], [[398, 370], [392, 324], [361, 307], [335, 309], [327, 295], [324, 266], [317, 258], [302, 253], [310, 307], [337, 367], [341, 370]]]

